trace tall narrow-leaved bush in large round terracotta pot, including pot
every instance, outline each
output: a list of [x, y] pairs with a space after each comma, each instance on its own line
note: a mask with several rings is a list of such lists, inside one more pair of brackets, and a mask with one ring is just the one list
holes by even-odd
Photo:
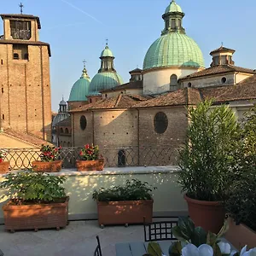
[[178, 183], [185, 192], [189, 216], [196, 226], [218, 233], [224, 223], [223, 201], [233, 182], [238, 126], [231, 108], [212, 101], [188, 108], [187, 140], [181, 148]]

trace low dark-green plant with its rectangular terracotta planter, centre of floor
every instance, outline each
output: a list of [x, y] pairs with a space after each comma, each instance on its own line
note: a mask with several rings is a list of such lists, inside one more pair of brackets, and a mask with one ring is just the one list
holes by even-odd
[[137, 179], [126, 180], [123, 186], [94, 190], [92, 198], [97, 202], [98, 222], [105, 224], [138, 224], [152, 222], [152, 186]]

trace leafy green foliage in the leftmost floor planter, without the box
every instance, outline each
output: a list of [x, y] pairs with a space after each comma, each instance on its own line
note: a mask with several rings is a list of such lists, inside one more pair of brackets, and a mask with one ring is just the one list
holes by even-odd
[[0, 183], [15, 204], [48, 203], [66, 197], [62, 184], [66, 177], [39, 172], [9, 173]]

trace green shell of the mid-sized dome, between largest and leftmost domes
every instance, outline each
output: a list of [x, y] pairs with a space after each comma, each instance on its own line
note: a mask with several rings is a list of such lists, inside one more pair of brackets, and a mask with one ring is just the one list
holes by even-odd
[[99, 95], [100, 90], [108, 90], [120, 84], [123, 84], [123, 79], [119, 76], [118, 73], [96, 73], [90, 82], [89, 95]]

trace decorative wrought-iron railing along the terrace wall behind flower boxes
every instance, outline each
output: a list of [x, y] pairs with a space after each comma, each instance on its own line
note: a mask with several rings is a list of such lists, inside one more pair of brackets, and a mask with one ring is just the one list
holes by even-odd
[[[32, 168], [32, 161], [40, 160], [39, 148], [1, 148], [5, 152], [4, 160], [8, 160], [12, 170]], [[61, 148], [60, 160], [63, 168], [75, 168], [76, 160], [80, 160], [81, 148]], [[100, 154], [105, 159], [105, 166], [168, 166], [175, 163], [173, 146], [165, 147], [103, 147]]]

